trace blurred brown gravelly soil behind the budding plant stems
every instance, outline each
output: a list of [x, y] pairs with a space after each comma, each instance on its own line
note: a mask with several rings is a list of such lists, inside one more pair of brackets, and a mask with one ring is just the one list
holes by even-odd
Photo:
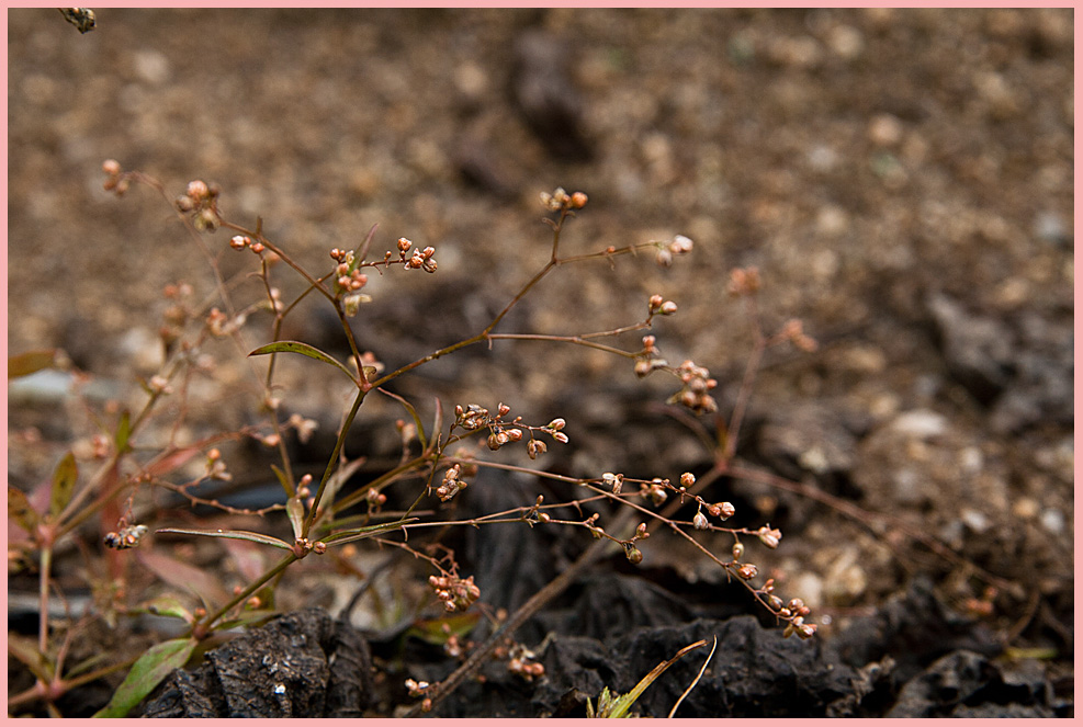
[[[655, 325], [662, 351], [709, 367], [726, 410], [752, 342], [729, 271], [757, 266], [767, 329], [800, 318], [820, 349], [768, 353], [738, 455], [1015, 586], [986, 594], [966, 566], [791, 492], [715, 486], [748, 524], [782, 530], [752, 559], [813, 606], [824, 639], [924, 573], [1071, 693], [1072, 10], [97, 14], [80, 35], [55, 9], [8, 11], [10, 353], [58, 347], [126, 390], [161, 360], [163, 287], [213, 293], [168, 205], [102, 190], [108, 158], [171, 195], [219, 184], [229, 219], [261, 216], [311, 270], [373, 224], [375, 257], [399, 236], [436, 247], [436, 275], [371, 276], [358, 330], [391, 366], [478, 332], [548, 258], [539, 193], [582, 190], [565, 252], [676, 234], [695, 250], [672, 268], [559, 270], [499, 330], [606, 330], [661, 293], [679, 306]], [[251, 264], [225, 232], [205, 239], [225, 273]], [[291, 330], [335, 345], [315, 307]], [[222, 380], [240, 387], [246, 366], [224, 360]], [[284, 371], [285, 406], [332, 436], [343, 393]], [[408, 378], [396, 390], [422, 407], [565, 417], [572, 443], [551, 456], [576, 476], [708, 463], [658, 413], [668, 380], [586, 349], [498, 342]], [[9, 481], [30, 488], [82, 433], [41, 395], [11, 396]], [[196, 405], [193, 420], [235, 428], [242, 404]], [[373, 404], [381, 427], [351, 454], [394, 456], [384, 424], [399, 412]], [[687, 583], [719, 576], [677, 548], [644, 552]]]

